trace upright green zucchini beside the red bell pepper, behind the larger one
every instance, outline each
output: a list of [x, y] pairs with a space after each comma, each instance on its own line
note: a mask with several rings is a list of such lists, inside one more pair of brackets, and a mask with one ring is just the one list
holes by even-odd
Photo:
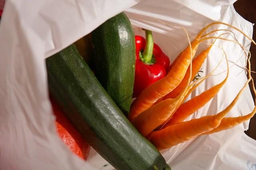
[[101, 85], [127, 116], [135, 75], [135, 38], [124, 12], [92, 32], [94, 71]]

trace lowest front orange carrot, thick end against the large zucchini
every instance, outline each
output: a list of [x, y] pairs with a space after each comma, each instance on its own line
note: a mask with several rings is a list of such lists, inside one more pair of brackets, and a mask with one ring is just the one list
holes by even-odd
[[156, 148], [158, 148], [158, 150], [164, 150], [176, 144], [191, 140], [192, 138], [195, 138], [200, 134], [203, 134], [218, 127], [224, 116], [228, 114], [232, 107], [234, 107], [240, 95], [242, 94], [251, 79], [252, 78], [249, 75], [248, 80], [244, 84], [244, 87], [240, 89], [238, 95], [234, 98], [230, 105], [228, 105], [228, 107], [226, 107], [217, 115], [208, 115], [199, 119], [192, 119], [190, 121], [170, 125], [161, 130], [152, 132], [150, 135], [147, 136], [148, 140], [150, 140], [150, 142], [152, 142], [156, 146]]

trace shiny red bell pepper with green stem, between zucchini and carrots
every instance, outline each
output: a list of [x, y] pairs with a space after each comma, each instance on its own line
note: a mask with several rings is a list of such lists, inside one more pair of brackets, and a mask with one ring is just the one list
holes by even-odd
[[133, 97], [143, 89], [162, 79], [170, 65], [169, 57], [153, 42], [152, 32], [145, 30], [146, 40], [135, 36], [136, 63]]

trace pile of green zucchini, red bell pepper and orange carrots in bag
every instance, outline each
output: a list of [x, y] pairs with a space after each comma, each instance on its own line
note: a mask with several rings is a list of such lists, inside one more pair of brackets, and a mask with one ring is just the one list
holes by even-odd
[[[184, 121], [210, 101], [228, 79], [229, 64], [222, 48], [226, 77], [186, 101], [211, 75], [194, 79], [215, 41], [226, 40], [242, 47], [235, 38], [223, 38], [231, 30], [218, 36], [211, 35], [220, 30], [205, 34], [216, 24], [228, 26], [249, 38], [229, 24], [213, 22], [203, 28], [170, 65], [169, 57], [153, 42], [152, 32], [145, 30], [146, 39], [135, 36], [129, 19], [120, 13], [96, 28], [86, 47], [80, 40], [76, 46], [72, 44], [46, 59], [50, 95], [78, 132], [114, 168], [169, 170], [160, 150], [232, 128], [256, 112], [254, 106], [246, 116], [225, 117], [252, 80], [249, 52], [248, 80], [232, 103], [219, 113]], [[213, 42], [195, 56], [205, 40]], [[92, 55], [90, 59], [88, 55], [84, 57], [87, 51]], [[132, 97], [136, 97], [133, 102]]]

